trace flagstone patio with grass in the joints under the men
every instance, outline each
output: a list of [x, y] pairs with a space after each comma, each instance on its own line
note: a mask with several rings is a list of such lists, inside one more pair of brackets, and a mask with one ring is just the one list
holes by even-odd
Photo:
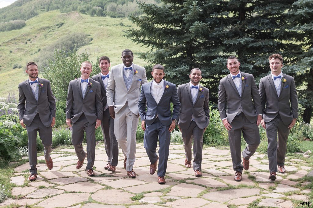
[[156, 173], [149, 174], [150, 162], [143, 144], [137, 144], [136, 178], [127, 176], [121, 152], [116, 172], [104, 169], [104, 145], [97, 147], [95, 177], [87, 176], [86, 164], [79, 170], [75, 168], [77, 157], [71, 147], [54, 150], [51, 156], [53, 169], [38, 164], [39, 175], [33, 182], [27, 180], [28, 163], [16, 167], [15, 176], [11, 177], [11, 183], [15, 184], [14, 198], [0, 206], [223, 208], [231, 204], [244, 208], [258, 203], [259, 206], [294, 207], [308, 201], [312, 191], [305, 188], [308, 182], [297, 181], [312, 170], [304, 160], [287, 158], [286, 173], [278, 173], [277, 180], [270, 181], [267, 157], [258, 153], [251, 157], [249, 171], [244, 171], [242, 181], [234, 181], [229, 149], [204, 148], [203, 176], [197, 178], [192, 168], [183, 165], [182, 144], [171, 144], [164, 185], [157, 183]]

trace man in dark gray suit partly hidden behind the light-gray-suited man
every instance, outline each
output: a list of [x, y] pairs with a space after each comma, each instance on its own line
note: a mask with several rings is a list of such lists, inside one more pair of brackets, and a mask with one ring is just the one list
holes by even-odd
[[105, 152], [108, 156], [108, 164], [104, 167], [108, 171], [115, 172], [118, 162], [118, 143], [114, 135], [114, 120], [110, 116], [106, 99], [106, 87], [108, 86], [108, 80], [110, 76], [110, 59], [107, 56], [102, 56], [99, 59], [99, 67], [101, 72], [92, 77], [101, 85], [101, 97], [103, 105], [103, 119], [101, 122], [101, 129], [104, 139]]

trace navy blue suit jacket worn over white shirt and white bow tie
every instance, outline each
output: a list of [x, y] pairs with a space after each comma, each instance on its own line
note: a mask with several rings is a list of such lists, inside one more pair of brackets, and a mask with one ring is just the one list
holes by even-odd
[[[164, 92], [159, 104], [156, 104], [155, 99], [151, 95], [151, 82], [141, 86], [140, 98], [138, 101], [138, 108], [141, 121], [145, 121], [147, 125], [151, 125], [156, 119], [156, 115], [161, 123], [169, 126], [172, 120], [179, 117], [180, 102], [177, 95], [176, 85], [164, 80]], [[169, 87], [166, 88], [166, 85]], [[173, 116], [171, 112], [171, 102], [174, 104]]]

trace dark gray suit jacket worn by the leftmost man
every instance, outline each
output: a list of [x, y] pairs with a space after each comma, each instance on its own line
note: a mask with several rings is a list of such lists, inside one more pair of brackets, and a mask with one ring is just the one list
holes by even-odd
[[55, 117], [55, 99], [51, 90], [50, 81], [38, 77], [38, 82], [43, 86], [38, 90], [38, 102], [35, 99], [28, 79], [18, 84], [18, 113], [19, 119], [29, 126], [37, 112], [44, 126], [49, 127]]

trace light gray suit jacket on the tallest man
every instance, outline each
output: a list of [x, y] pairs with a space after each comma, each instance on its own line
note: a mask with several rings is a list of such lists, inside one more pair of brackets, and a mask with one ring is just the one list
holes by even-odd
[[138, 99], [140, 95], [140, 85], [147, 82], [146, 70], [145, 68], [133, 64], [134, 69], [138, 73], [134, 73], [133, 80], [131, 82], [131, 87], [129, 90], [126, 88], [124, 81], [124, 69], [123, 64], [113, 66], [111, 68], [111, 73], [108, 81], [108, 86], [106, 88], [106, 96], [108, 100], [108, 106], [113, 105], [115, 113], [119, 112], [121, 108], [128, 102], [128, 107], [134, 114], [138, 115]]

